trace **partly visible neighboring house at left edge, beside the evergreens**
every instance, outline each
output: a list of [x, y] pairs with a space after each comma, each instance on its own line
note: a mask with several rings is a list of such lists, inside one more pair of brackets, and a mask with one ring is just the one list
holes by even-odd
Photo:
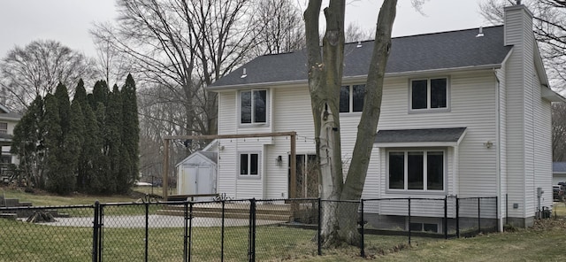
[[16, 164], [18, 158], [11, 155], [10, 144], [11, 135], [13, 135], [14, 127], [18, 124], [21, 116], [18, 113], [10, 112], [8, 108], [0, 104], [0, 147], [2, 155], [0, 156], [0, 175], [8, 168], [9, 164]]

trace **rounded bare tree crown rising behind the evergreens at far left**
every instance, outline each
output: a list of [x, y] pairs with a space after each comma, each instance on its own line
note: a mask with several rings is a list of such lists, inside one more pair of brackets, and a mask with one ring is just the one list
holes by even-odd
[[52, 40], [16, 46], [0, 62], [7, 106], [21, 112], [36, 96], [52, 93], [59, 82], [74, 87], [81, 78], [90, 81], [93, 65], [92, 59]]

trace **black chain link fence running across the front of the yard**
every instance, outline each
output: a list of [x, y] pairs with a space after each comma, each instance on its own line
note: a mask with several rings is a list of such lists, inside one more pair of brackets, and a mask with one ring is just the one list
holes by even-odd
[[353, 255], [497, 229], [497, 198], [318, 198], [0, 207], [0, 261], [265, 261], [330, 254], [328, 220]]

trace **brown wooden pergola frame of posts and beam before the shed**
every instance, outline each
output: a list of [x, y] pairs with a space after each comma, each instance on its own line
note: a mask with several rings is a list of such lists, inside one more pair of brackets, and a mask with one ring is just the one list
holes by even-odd
[[290, 154], [291, 161], [291, 184], [289, 197], [296, 196], [296, 152], [295, 152], [295, 139], [297, 133], [291, 132], [278, 132], [278, 133], [258, 133], [258, 134], [240, 134], [240, 135], [168, 135], [164, 137], [164, 165], [163, 165], [163, 197], [167, 199], [167, 189], [169, 189], [169, 143], [172, 140], [187, 140], [187, 139], [237, 139], [237, 138], [256, 138], [256, 137], [273, 137], [273, 136], [290, 136]]

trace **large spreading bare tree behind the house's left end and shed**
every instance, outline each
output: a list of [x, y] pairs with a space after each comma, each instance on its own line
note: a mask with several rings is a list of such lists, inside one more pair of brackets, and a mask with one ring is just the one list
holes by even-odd
[[[144, 86], [169, 89], [183, 106], [178, 135], [216, 133], [217, 98], [204, 91], [249, 55], [254, 30], [250, 0], [119, 0], [116, 27], [91, 33], [129, 60]], [[143, 94], [143, 90], [141, 90]]]

